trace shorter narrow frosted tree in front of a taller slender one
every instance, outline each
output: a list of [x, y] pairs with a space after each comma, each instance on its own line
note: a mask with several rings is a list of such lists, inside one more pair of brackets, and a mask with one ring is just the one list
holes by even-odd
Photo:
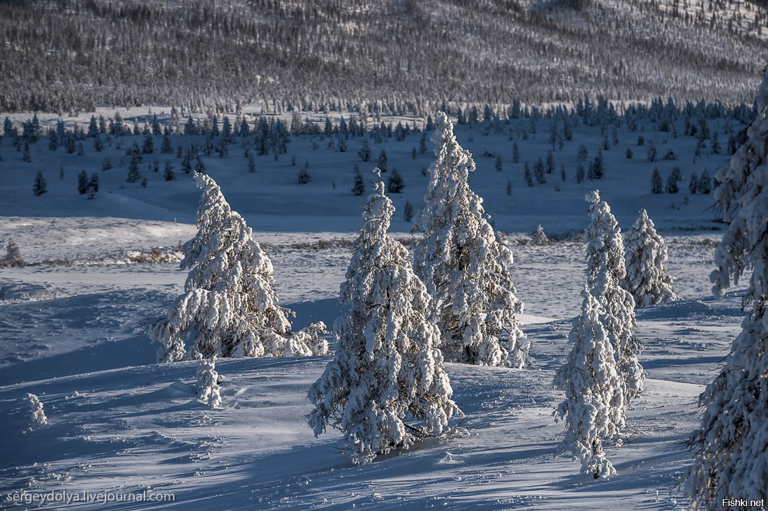
[[555, 412], [555, 420], [565, 420], [558, 453], [573, 453], [581, 461], [581, 471], [598, 479], [616, 473], [605, 457], [603, 441], [611, 441], [624, 429], [624, 386], [601, 323], [604, 310], [588, 290], [581, 296], [581, 315], [568, 334], [571, 353], [554, 377], [554, 387], [565, 391], [565, 400]]

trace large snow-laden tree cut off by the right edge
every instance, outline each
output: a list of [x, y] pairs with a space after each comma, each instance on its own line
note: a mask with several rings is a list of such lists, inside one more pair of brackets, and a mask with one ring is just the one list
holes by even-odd
[[743, 305], [752, 309], [723, 370], [699, 398], [704, 411], [686, 480], [694, 509], [716, 509], [733, 496], [768, 496], [768, 69], [756, 103], [749, 139], [718, 171], [716, 197], [733, 217], [715, 252], [713, 294], [722, 298], [730, 281], [751, 268]]

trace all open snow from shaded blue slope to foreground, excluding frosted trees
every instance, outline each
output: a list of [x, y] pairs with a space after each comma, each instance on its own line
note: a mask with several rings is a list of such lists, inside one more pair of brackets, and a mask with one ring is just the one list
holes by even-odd
[[[163, 314], [185, 274], [173, 261], [131, 263], [124, 255], [177, 247], [194, 235], [199, 193], [190, 176], [180, 173], [175, 151], [144, 155], [144, 165], [157, 158], [162, 169], [170, 159], [177, 180], [164, 181], [162, 173], [143, 167], [148, 184], [141, 187], [125, 183], [128, 158], [118, 148], [134, 140], [141, 145], [141, 137], [112, 138], [101, 153], [86, 139], [84, 156], [62, 148], [51, 153], [42, 139], [31, 146], [31, 163], [21, 161], [8, 138], [0, 141], [0, 240], [12, 237], [30, 263], [0, 268], [0, 494], [173, 492], [175, 505], [155, 503], [158, 509], [684, 508], [677, 483], [690, 459], [684, 441], [698, 421], [696, 399], [717, 373], [743, 317], [738, 291], [720, 302], [710, 297], [711, 255], [723, 227], [710, 209], [711, 195], [684, 192], [691, 172], [707, 168], [713, 174], [727, 158], [707, 153], [694, 164], [693, 138], [650, 131], [650, 124], [640, 133], [621, 127], [619, 144], [603, 153], [605, 177], [577, 184], [578, 146], [587, 145], [592, 158], [603, 143], [599, 128], [579, 126], [574, 140], [554, 151], [556, 170], [547, 174], [548, 183], [530, 188], [522, 168], [551, 148], [548, 121], [539, 122], [538, 138], [515, 138], [518, 164], [511, 163], [508, 128], [516, 136], [528, 130], [528, 121], [514, 122], [501, 133], [489, 129], [485, 136], [488, 124], [478, 124], [458, 127], [457, 135], [478, 163], [472, 187], [485, 198], [497, 230], [508, 233], [535, 367], [449, 364], [466, 433], [366, 466], [341, 456], [338, 433], [315, 439], [306, 426], [306, 390], [328, 357], [221, 360], [221, 410], [195, 399], [197, 363], [154, 363], [157, 347], [144, 333], [146, 321]], [[711, 123], [718, 130], [723, 124]], [[660, 154], [673, 148], [678, 159], [649, 163], [646, 147], [637, 146], [638, 134], [646, 144], [654, 141]], [[202, 138], [171, 138], [174, 146], [182, 140], [200, 144]], [[296, 311], [295, 328], [313, 320], [333, 324], [340, 313], [336, 295], [366, 195], [350, 192], [353, 165], [367, 174], [381, 148], [389, 168], [399, 168], [406, 183], [404, 193], [392, 194], [392, 235], [406, 245], [413, 239], [400, 212], [406, 201], [419, 210], [426, 184], [421, 170], [431, 152], [412, 158], [419, 134], [385, 140], [371, 143], [367, 163], [356, 155], [359, 138], [350, 139], [345, 153], [328, 148], [327, 139], [293, 138], [279, 161], [257, 157], [253, 174], [237, 139], [227, 158], [204, 158], [272, 258], [278, 294]], [[627, 148], [635, 153], [631, 160]], [[482, 156], [485, 151], [502, 156], [502, 171], [495, 171], [495, 156]], [[109, 171], [101, 171], [105, 157], [111, 158]], [[313, 181], [302, 185], [296, 174], [304, 161]], [[682, 169], [681, 193], [650, 194], [654, 168], [666, 179], [674, 167]], [[81, 168], [99, 174], [101, 191], [93, 201], [76, 190]], [[38, 170], [49, 192], [32, 197]], [[578, 233], [588, 223], [584, 192], [594, 188], [622, 227], [647, 208], [666, 237], [670, 273], [682, 297], [637, 310], [647, 391], [629, 413], [627, 443], [607, 449], [617, 476], [601, 481], [579, 474], [578, 463], [553, 456], [563, 426], [552, 417], [562, 393], [551, 389], [581, 303], [585, 264]], [[532, 244], [528, 233], [537, 224], [561, 239]], [[29, 426], [27, 393], [45, 403], [50, 424]], [[128, 503], [113, 507], [138, 509]]]

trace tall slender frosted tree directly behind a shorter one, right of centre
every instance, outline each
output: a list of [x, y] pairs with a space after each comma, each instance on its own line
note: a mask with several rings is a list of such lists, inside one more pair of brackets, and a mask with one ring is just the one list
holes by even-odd
[[591, 224], [584, 231], [587, 244], [587, 287], [603, 309], [601, 322], [614, 348], [616, 369], [624, 388], [624, 406], [643, 391], [645, 371], [637, 360], [643, 345], [634, 337], [634, 299], [621, 287], [627, 275], [624, 240], [611, 207], [599, 191], [586, 195]]

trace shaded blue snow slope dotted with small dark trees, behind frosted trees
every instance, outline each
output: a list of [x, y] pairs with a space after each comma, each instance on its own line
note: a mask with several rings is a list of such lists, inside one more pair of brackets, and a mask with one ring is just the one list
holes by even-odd
[[[151, 120], [147, 111], [141, 115], [134, 111], [133, 117], [124, 117], [127, 121], [141, 123]], [[81, 121], [88, 118], [84, 115]], [[53, 120], [51, 116], [41, 116], [41, 119], [44, 125]], [[397, 118], [387, 119], [388, 122], [390, 120], [395, 124], [398, 122]], [[410, 119], [409, 124], [414, 121], [416, 119]], [[422, 119], [418, 121], [421, 125]], [[548, 141], [549, 119], [540, 119], [536, 123], [535, 134], [531, 132], [530, 119], [503, 121], [498, 131], [490, 123], [457, 125], [455, 131], [458, 142], [472, 152], [477, 163], [477, 171], [470, 175], [470, 183], [473, 190], [483, 197], [485, 210], [491, 215], [498, 231], [534, 231], [538, 224], [550, 234], [581, 231], [586, 224], [584, 193], [595, 188], [599, 188], [604, 200], [611, 204], [624, 228], [631, 226], [641, 207], [647, 209], [648, 215], [663, 233], [673, 227], [688, 231], [721, 227], [721, 224], [713, 224], [717, 215], [711, 208], [711, 195], [690, 194], [687, 184], [691, 174], [708, 170], [711, 176], [727, 161], [725, 149], [728, 135], [724, 130], [730, 125], [731, 131], [738, 131], [740, 124], [727, 119], [710, 120], [710, 130], [719, 134], [721, 152], [711, 154], [707, 141], [707, 149], [694, 163], [697, 140], [682, 134], [682, 121], [678, 121], [680, 135], [677, 138], [670, 132], [651, 131], [650, 122], [641, 122], [639, 131], [628, 131], [625, 124], [617, 128], [617, 144], [610, 141], [608, 150], [604, 150], [604, 135], [600, 128], [579, 124], [574, 128], [573, 139], [565, 141], [562, 149], [553, 151], [554, 172], [545, 174], [547, 182], [533, 187], [526, 185], [525, 164], [532, 169], [538, 158], [546, 161], [548, 151], [552, 149]], [[70, 123], [68, 129], [71, 128]], [[607, 137], [612, 138], [612, 134], [607, 133]], [[638, 138], [641, 137], [643, 145], [638, 145]], [[403, 141], [385, 137], [380, 144], [376, 144], [366, 136], [371, 148], [371, 161], [362, 162], [357, 154], [363, 144], [362, 138], [349, 138], [346, 151], [339, 152], [335, 136], [300, 135], [291, 138], [287, 153], [281, 154], [277, 161], [272, 154], [256, 156], [251, 147], [256, 163], [254, 173], [248, 172], [242, 147], [243, 144], [253, 145], [250, 137], [236, 138], [225, 158], [219, 158], [215, 152], [210, 157], [202, 155], [202, 152], [200, 154], [207, 172], [220, 184], [227, 201], [254, 230], [349, 233], [359, 228], [360, 211], [372, 189], [370, 171], [376, 166], [381, 151], [386, 151], [387, 167], [390, 171], [397, 168], [405, 182], [402, 193], [392, 194], [396, 207], [392, 231], [408, 232], [412, 222], [405, 221], [403, 217], [405, 204], [412, 204], [415, 212], [421, 209], [427, 185], [425, 169], [434, 160], [429, 136], [424, 153], [418, 151], [419, 138], [419, 133], [412, 133]], [[134, 142], [141, 147], [141, 136], [111, 138], [101, 152], [94, 151], [93, 140], [86, 138], [83, 141], [83, 156], [78, 156], [76, 152], [67, 154], [61, 147], [55, 152], [48, 151], [47, 138], [42, 138], [30, 146], [31, 163], [22, 161], [23, 151], [16, 151], [11, 138], [4, 137], [0, 140], [0, 168], [4, 173], [0, 185], [0, 214], [22, 217], [126, 217], [194, 223], [199, 193], [191, 175], [181, 172], [177, 148], [187, 149], [190, 144], [202, 148], [205, 139], [202, 136], [174, 135], [170, 138], [174, 154], [159, 153], [161, 140], [159, 136], [154, 137], [156, 152], [144, 154], [139, 164], [142, 177], [147, 178], [147, 187], [142, 187], [139, 183], [126, 182], [131, 157], [125, 154], [125, 149]], [[336, 145], [329, 148], [329, 142]], [[657, 161], [654, 162], [647, 161], [650, 142], [657, 148]], [[513, 144], [518, 144], [518, 163], [512, 162]], [[602, 151], [606, 168], [604, 178], [576, 182], [577, 155], [581, 145], [588, 150], [584, 168], [588, 168], [598, 151]], [[634, 153], [633, 158], [627, 159], [627, 149]], [[413, 158], [414, 150], [416, 158]], [[664, 160], [668, 151], [672, 151], [676, 159]], [[495, 170], [497, 156], [502, 160], [502, 171]], [[109, 158], [112, 168], [101, 171], [105, 158]], [[149, 169], [155, 161], [159, 168], [157, 173]], [[176, 181], [164, 181], [166, 161], [173, 165]], [[309, 165], [312, 181], [298, 184], [298, 174], [305, 164]], [[361, 196], [352, 193], [356, 165], [366, 181], [366, 193]], [[561, 166], [565, 169], [565, 181], [561, 180]], [[680, 193], [651, 194], [650, 178], [655, 168], [659, 169], [665, 182], [673, 168], [680, 168]], [[60, 177], [62, 169], [64, 175]], [[78, 194], [77, 175], [81, 170], [89, 177], [98, 174], [100, 187], [92, 201], [86, 195]], [[32, 184], [38, 171], [48, 183], [48, 193], [33, 197]], [[389, 174], [383, 176], [386, 182]], [[510, 194], [506, 192], [508, 184]], [[17, 224], [16, 227], [32, 228], [34, 224]], [[98, 227], [98, 230], [101, 228]], [[94, 231], [94, 236], [98, 230]], [[158, 237], [161, 233], [147, 234]], [[181, 238], [180, 234], [170, 231], [167, 242], [161, 244], [174, 245]], [[22, 251], [28, 252], [23, 245], [21, 247]], [[78, 252], [76, 249], [73, 251]]]

